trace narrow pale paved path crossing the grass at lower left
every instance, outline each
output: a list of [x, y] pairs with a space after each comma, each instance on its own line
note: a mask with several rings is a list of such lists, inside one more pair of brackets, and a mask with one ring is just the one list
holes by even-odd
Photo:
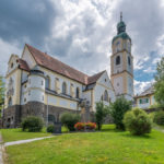
[[52, 138], [52, 137], [54, 136], [43, 137], [43, 138], [35, 138], [35, 139], [28, 139], [28, 140], [19, 140], [19, 141], [5, 142], [4, 147], [14, 145], [14, 144], [22, 144], [22, 143], [28, 143], [28, 142], [38, 141], [38, 140], [43, 140], [43, 139], [48, 139], [48, 138]]

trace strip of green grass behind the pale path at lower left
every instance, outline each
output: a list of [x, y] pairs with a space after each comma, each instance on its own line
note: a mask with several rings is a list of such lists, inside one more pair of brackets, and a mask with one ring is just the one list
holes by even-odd
[[20, 128], [17, 128], [17, 129], [1, 129], [0, 132], [3, 138], [3, 142], [26, 140], [26, 139], [50, 136], [50, 133], [46, 132], [46, 129], [43, 129], [42, 132], [24, 132]]

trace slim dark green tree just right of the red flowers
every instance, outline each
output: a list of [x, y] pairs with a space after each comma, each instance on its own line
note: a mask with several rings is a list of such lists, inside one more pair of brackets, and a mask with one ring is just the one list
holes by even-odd
[[107, 106], [105, 106], [103, 102], [96, 103], [95, 120], [96, 120], [98, 130], [102, 129], [102, 125], [107, 114], [108, 114]]

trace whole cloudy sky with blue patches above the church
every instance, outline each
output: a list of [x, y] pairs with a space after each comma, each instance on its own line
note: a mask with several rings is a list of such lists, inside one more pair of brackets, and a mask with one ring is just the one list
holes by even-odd
[[164, 0], [0, 0], [0, 74], [27, 43], [89, 75], [110, 75], [120, 12], [132, 39], [134, 93], [141, 93], [164, 56]]

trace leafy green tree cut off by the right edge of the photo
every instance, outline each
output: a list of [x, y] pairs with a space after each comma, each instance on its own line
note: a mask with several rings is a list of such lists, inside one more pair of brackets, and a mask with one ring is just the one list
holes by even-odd
[[155, 74], [155, 101], [164, 106], [164, 57], [157, 62]]

